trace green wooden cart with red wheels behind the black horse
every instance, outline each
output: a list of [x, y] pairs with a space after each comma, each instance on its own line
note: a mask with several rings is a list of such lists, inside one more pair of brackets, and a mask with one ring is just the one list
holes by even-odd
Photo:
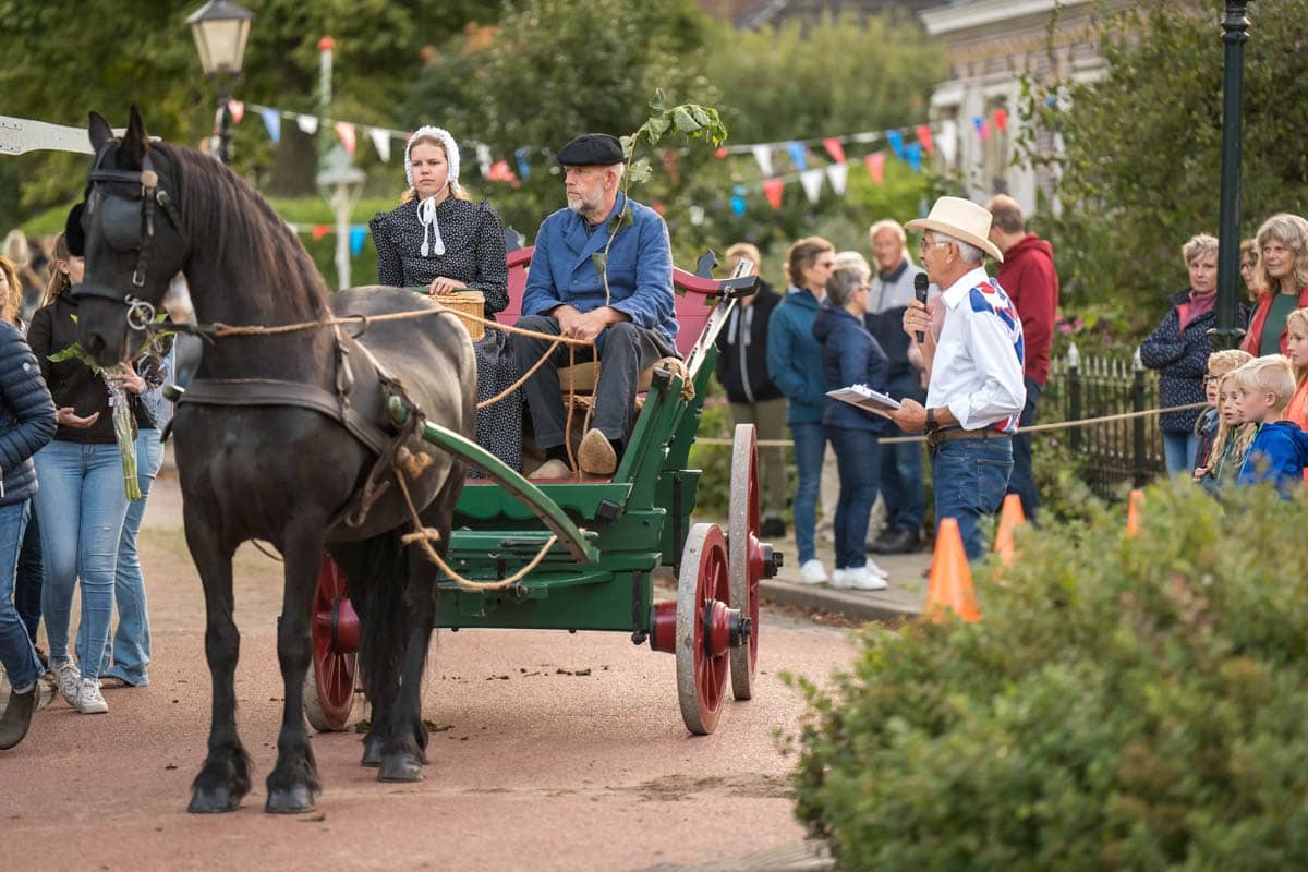
[[[515, 301], [530, 256], [530, 248], [509, 254]], [[459, 575], [506, 579], [556, 537], [525, 578], [502, 590], [467, 590], [445, 578], [437, 625], [610, 630], [629, 634], [636, 645], [649, 642], [654, 651], [675, 655], [681, 716], [693, 733], [717, 727], [729, 675], [736, 699], [752, 696], [759, 580], [781, 565], [781, 554], [759, 540], [752, 425], [735, 430], [727, 529], [691, 520], [700, 471], [688, 468], [688, 456], [717, 360], [714, 340], [735, 301], [755, 289], [749, 276], [712, 278], [712, 263], [706, 255], [696, 275], [678, 269], [674, 278], [693, 396], [683, 392], [680, 374], [653, 373], [612, 478], [532, 482], [459, 434], [424, 424], [429, 442], [490, 477], [470, 480], [455, 510], [446, 561]], [[403, 414], [398, 403], [392, 412]], [[675, 600], [654, 600], [654, 570], [661, 566], [675, 573]], [[330, 558], [319, 577], [313, 638], [314, 669], [305, 694], [309, 720], [320, 731], [343, 729], [356, 696], [358, 618], [348, 600], [348, 580]]]

